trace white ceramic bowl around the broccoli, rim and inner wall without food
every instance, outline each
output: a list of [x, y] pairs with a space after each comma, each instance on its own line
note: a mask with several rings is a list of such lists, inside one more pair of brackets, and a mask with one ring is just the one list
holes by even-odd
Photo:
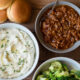
[[56, 57], [56, 58], [49, 59], [49, 60], [45, 61], [44, 63], [42, 63], [38, 67], [36, 72], [34, 73], [32, 80], [36, 80], [37, 75], [41, 71], [45, 71], [46, 69], [48, 69], [50, 64], [51, 64], [51, 62], [53, 62], [55, 60], [61, 61], [62, 63], [66, 64], [69, 69], [80, 70], [80, 64], [78, 62], [76, 62], [75, 60], [70, 59], [70, 58], [66, 58], [66, 57]]

